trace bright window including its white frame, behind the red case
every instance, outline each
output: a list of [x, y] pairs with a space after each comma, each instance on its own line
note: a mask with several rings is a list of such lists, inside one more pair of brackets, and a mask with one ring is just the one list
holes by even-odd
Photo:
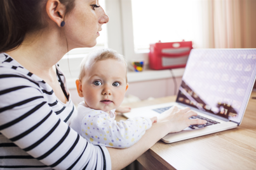
[[[114, 46], [109, 47], [119, 49], [118, 52], [125, 56], [128, 64], [133, 60], [144, 60], [147, 65], [149, 44], [159, 40], [162, 42], [192, 40], [197, 47], [203, 47], [203, 1], [117, 0], [114, 2], [119, 3], [121, 33], [117, 36], [121, 37], [119, 38], [121, 40], [116, 40], [115, 43], [112, 39], [111, 45]], [[114, 8], [111, 11], [114, 11]], [[116, 20], [118, 23], [118, 18]], [[108, 35], [112, 29], [113, 26], [109, 25]], [[118, 44], [122, 46], [118, 48]]]

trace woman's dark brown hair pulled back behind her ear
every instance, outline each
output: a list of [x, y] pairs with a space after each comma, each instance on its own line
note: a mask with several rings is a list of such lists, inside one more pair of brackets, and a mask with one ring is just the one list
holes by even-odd
[[[66, 6], [65, 15], [74, 8], [75, 0], [59, 0]], [[47, 0], [0, 0], [0, 52], [16, 49], [26, 33], [47, 26]]]

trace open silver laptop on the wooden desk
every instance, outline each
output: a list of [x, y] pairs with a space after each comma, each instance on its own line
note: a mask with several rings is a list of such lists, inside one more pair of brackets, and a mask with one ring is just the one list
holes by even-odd
[[[192, 49], [176, 102], [131, 109], [126, 118], [152, 118], [177, 106], [205, 119], [161, 140], [166, 143], [236, 128], [241, 124], [256, 77], [256, 49]], [[172, 88], [172, 87], [170, 87]]]

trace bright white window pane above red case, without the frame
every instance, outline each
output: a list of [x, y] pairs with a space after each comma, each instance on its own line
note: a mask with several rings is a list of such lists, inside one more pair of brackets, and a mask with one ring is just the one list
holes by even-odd
[[131, 0], [134, 49], [149, 49], [150, 43], [196, 43], [199, 37], [199, 5], [192, 0]]

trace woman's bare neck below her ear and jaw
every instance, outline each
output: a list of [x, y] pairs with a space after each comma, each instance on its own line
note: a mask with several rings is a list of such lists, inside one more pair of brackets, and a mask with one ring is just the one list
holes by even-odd
[[48, 75], [54, 65], [67, 52], [65, 35], [59, 30], [44, 29], [41, 32], [29, 33], [17, 49], [6, 52], [30, 72]]

